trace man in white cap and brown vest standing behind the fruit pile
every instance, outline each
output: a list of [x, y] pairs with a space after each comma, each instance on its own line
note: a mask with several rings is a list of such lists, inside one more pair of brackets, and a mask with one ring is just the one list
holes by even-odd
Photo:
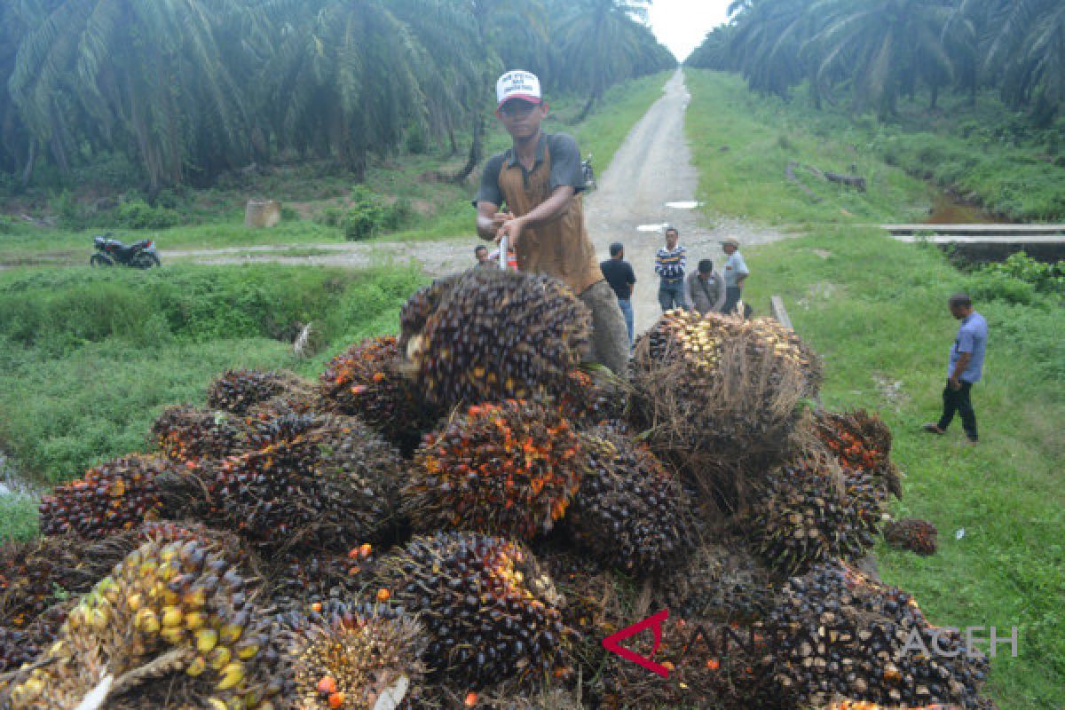
[[[536, 75], [503, 75], [495, 99], [495, 115], [513, 143], [485, 164], [474, 200], [477, 234], [496, 242], [506, 237], [522, 271], [548, 274], [573, 290], [592, 315], [590, 359], [622, 375], [628, 364], [625, 318], [588, 238], [577, 144], [540, 129], [547, 104]], [[504, 203], [506, 212], [499, 209]]]

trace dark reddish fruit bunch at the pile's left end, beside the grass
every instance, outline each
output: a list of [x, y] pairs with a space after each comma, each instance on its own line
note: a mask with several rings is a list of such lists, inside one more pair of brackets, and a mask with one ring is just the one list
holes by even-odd
[[173, 470], [166, 459], [126, 456], [89, 468], [40, 499], [40, 532], [103, 538], [160, 513], [155, 480]]

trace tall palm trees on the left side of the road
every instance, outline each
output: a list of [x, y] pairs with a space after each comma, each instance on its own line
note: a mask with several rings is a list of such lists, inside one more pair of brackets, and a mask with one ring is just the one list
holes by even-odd
[[645, 4], [3, 0], [0, 183], [110, 153], [152, 188], [292, 158], [361, 175], [411, 131], [454, 152], [457, 132], [472, 135], [472, 169], [504, 67], [590, 108], [612, 83], [675, 64], [640, 21]]

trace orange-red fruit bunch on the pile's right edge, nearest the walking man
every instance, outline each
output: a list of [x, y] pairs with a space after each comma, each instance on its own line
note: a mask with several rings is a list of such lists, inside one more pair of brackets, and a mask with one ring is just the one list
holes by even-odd
[[814, 418], [818, 439], [841, 465], [864, 468], [897, 498], [902, 497], [902, 476], [891, 462], [891, 430], [875, 414], [818, 411]]

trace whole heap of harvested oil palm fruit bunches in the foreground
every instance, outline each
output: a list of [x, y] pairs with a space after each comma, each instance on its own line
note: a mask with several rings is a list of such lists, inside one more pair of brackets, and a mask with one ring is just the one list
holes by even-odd
[[[671, 311], [616, 378], [547, 277], [399, 316], [316, 381], [225, 373], [155, 422], [165, 459], [58, 489], [67, 532], [0, 547], [0, 710], [987, 707], [982, 661], [885, 656], [934, 632], [840, 562], [899, 492], [890, 432], [803, 411], [790, 331]], [[603, 646], [666, 609], [668, 678]]]

